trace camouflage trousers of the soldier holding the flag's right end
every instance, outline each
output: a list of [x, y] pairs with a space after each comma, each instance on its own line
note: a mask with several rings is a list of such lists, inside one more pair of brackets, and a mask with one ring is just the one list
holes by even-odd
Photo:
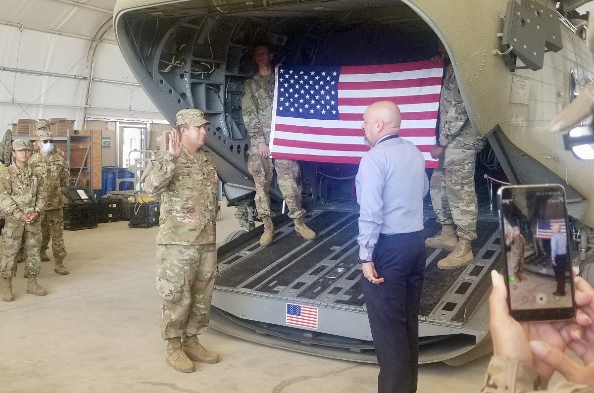
[[442, 225], [456, 224], [462, 239], [476, 239], [476, 150], [445, 148], [443, 164], [433, 170], [431, 204]]

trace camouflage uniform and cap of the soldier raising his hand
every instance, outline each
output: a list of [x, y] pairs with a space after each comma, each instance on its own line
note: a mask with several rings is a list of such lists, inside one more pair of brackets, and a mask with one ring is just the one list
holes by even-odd
[[[185, 109], [177, 125], [202, 125], [203, 112]], [[161, 196], [157, 291], [163, 299], [163, 340], [206, 331], [216, 272], [217, 170], [202, 149], [169, 151], [147, 166], [144, 189]]]

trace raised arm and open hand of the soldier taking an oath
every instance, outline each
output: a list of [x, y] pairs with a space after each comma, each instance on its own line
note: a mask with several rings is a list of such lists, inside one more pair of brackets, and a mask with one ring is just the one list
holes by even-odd
[[178, 157], [182, 154], [182, 143], [178, 131], [169, 134], [169, 150], [157, 157], [156, 160], [149, 163], [144, 170], [142, 181], [144, 191], [151, 196], [159, 196], [167, 189]]

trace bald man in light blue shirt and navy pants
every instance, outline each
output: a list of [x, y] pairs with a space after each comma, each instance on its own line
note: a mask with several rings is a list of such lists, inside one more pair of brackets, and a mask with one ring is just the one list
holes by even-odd
[[366, 144], [355, 183], [359, 203], [361, 286], [380, 365], [379, 392], [415, 392], [419, 303], [425, 270], [425, 159], [399, 138], [402, 115], [392, 102], [363, 116]]

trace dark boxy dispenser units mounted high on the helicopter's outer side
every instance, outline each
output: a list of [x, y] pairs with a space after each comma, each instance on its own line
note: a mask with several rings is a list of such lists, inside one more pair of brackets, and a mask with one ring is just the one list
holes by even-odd
[[[547, 8], [533, 0], [516, 0], [507, 3], [501, 36], [501, 52], [510, 71], [542, 68], [545, 51], [563, 49], [561, 23], [555, 9]], [[516, 67], [520, 59], [524, 66]]]

